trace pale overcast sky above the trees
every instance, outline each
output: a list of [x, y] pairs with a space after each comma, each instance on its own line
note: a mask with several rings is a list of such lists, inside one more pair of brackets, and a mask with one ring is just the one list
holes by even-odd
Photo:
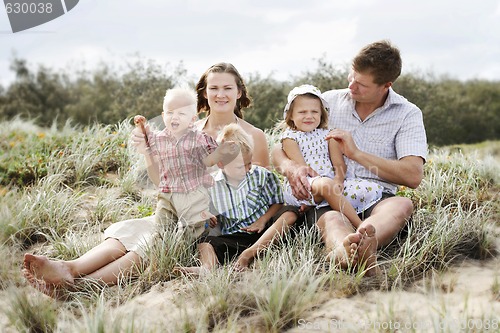
[[287, 79], [317, 59], [345, 66], [367, 43], [399, 46], [403, 72], [500, 80], [500, 0], [80, 0], [12, 33], [0, 8], [0, 83], [13, 54], [36, 68], [91, 69], [153, 59], [194, 78], [219, 61]]

